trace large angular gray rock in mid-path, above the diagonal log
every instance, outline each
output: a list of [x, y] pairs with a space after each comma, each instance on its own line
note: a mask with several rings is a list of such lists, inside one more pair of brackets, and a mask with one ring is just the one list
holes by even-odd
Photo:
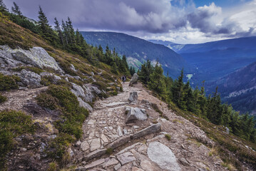
[[148, 116], [145, 113], [145, 109], [141, 109], [141, 108], [130, 107], [128, 114], [126, 115], [126, 122], [128, 122], [129, 120], [147, 120], [147, 119], [148, 119]]

